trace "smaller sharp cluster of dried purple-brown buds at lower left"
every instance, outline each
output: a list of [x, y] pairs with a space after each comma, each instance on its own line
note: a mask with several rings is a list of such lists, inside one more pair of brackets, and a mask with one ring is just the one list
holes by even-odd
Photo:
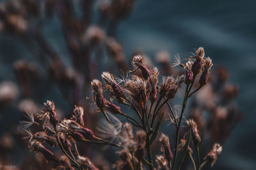
[[[82, 157], [77, 150], [77, 143], [113, 144], [94, 135], [93, 131], [84, 127], [84, 109], [75, 106], [72, 118], [60, 120], [56, 112], [54, 102], [47, 100], [44, 103], [42, 113], [35, 115], [27, 113], [28, 121], [20, 121], [20, 130], [26, 133], [28, 146], [31, 151], [42, 153], [47, 162], [52, 162], [56, 169], [98, 169], [88, 157]], [[32, 125], [41, 125], [42, 131], [31, 132]], [[119, 146], [118, 144], [113, 144]], [[58, 146], [63, 155], [57, 156], [51, 151]], [[51, 149], [52, 148], [52, 149]]]

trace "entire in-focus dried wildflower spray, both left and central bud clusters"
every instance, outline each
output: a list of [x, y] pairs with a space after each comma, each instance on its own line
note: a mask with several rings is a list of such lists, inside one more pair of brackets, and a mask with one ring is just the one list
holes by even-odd
[[[103, 83], [93, 79], [93, 103], [107, 120], [98, 129], [100, 137], [85, 127], [83, 107], [76, 106], [72, 118], [60, 120], [54, 103], [47, 100], [42, 113], [37, 116], [38, 120], [42, 121], [42, 131], [33, 133], [29, 130], [31, 125], [38, 124], [33, 114], [27, 116], [30, 121], [21, 122], [21, 130], [28, 134], [29, 148], [31, 151], [42, 153], [47, 161], [56, 165], [56, 169], [98, 169], [88, 157], [80, 155], [77, 143], [104, 144], [119, 148], [120, 160], [114, 164], [116, 169], [180, 169], [187, 156], [191, 159], [194, 169], [201, 169], [207, 162], [211, 162], [212, 166], [222, 148], [220, 144], [215, 143], [201, 163], [199, 146], [202, 139], [193, 119], [186, 120], [188, 131], [180, 137], [180, 127], [188, 98], [207, 84], [212, 66], [211, 59], [204, 58], [202, 47], [196, 50], [195, 56], [188, 59], [185, 65], [179, 63], [184, 68], [182, 75], [163, 77], [161, 83], [157, 68], [147, 68], [145, 59], [140, 55], [132, 59], [134, 70], [128, 79], [120, 81], [109, 72], [102, 73]], [[199, 79], [196, 79], [197, 75]], [[193, 88], [196, 81], [199, 86]], [[182, 108], [177, 111], [169, 102], [183, 84], [186, 84], [184, 100]], [[106, 98], [106, 91], [109, 91], [109, 100]], [[125, 113], [120, 106], [114, 104], [115, 98], [120, 105], [131, 107], [129, 113]], [[170, 111], [163, 110], [166, 105]], [[157, 139], [164, 116], [167, 116], [175, 127], [173, 147], [170, 146], [167, 135], [162, 133]], [[126, 122], [122, 123], [118, 117], [124, 117]], [[135, 136], [132, 132], [134, 128], [137, 129]], [[153, 155], [152, 144], [157, 143], [156, 141], [159, 141], [163, 155]], [[63, 155], [57, 157], [44, 143], [51, 147], [58, 146]]]

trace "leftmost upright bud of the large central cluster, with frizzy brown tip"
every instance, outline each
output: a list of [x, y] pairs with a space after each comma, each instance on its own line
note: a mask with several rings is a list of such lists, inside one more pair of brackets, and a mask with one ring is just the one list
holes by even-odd
[[92, 84], [92, 92], [93, 92], [93, 102], [96, 103], [96, 105], [100, 108], [103, 109], [106, 105], [105, 103], [105, 98], [102, 93], [102, 88], [101, 88], [101, 82], [98, 81], [97, 79], [93, 79], [91, 82]]

